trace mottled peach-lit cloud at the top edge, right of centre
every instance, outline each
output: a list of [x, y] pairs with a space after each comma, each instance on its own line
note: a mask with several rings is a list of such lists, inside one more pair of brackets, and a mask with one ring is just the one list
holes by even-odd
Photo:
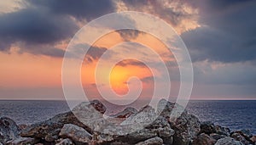
[[197, 26], [197, 11], [189, 8], [186, 1], [123, 0], [122, 2], [125, 3], [128, 10], [154, 14], [175, 27], [177, 32], [193, 29]]

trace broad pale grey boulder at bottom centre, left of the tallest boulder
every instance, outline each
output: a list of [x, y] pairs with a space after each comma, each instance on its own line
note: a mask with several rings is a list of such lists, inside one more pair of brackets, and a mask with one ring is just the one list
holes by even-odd
[[165, 144], [172, 144], [173, 135], [174, 131], [167, 119], [158, 116], [152, 107], [145, 106], [120, 125], [108, 124], [102, 133], [96, 135], [96, 139], [101, 143], [119, 141], [134, 144], [160, 137]]

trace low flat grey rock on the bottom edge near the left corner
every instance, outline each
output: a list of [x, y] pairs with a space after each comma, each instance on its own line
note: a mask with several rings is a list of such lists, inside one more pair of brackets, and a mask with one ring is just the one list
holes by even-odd
[[9, 141], [7, 145], [27, 145], [27, 144], [36, 144], [39, 142], [39, 139], [31, 138], [31, 137], [20, 137], [16, 138], [13, 141]]

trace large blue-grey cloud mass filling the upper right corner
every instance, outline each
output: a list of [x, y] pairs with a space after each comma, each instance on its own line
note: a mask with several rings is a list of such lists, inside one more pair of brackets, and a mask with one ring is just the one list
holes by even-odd
[[229, 63], [256, 59], [256, 2], [229, 2], [199, 4], [200, 23], [204, 26], [182, 34], [194, 61]]

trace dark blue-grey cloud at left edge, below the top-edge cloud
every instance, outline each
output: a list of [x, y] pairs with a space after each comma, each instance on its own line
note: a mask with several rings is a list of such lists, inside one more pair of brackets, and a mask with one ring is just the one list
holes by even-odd
[[68, 17], [52, 14], [49, 17], [47, 11], [35, 8], [1, 14], [0, 50], [9, 51], [12, 44], [19, 42], [22, 43], [20, 53], [29, 52], [59, 57], [63, 53], [61, 49], [48, 45], [73, 36], [77, 28], [73, 20]]

